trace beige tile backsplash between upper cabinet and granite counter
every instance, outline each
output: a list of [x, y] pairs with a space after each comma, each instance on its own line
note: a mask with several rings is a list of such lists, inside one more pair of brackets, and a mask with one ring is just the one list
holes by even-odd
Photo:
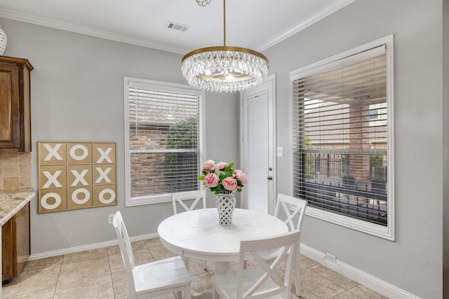
[[32, 188], [31, 153], [0, 153], [0, 190]]

